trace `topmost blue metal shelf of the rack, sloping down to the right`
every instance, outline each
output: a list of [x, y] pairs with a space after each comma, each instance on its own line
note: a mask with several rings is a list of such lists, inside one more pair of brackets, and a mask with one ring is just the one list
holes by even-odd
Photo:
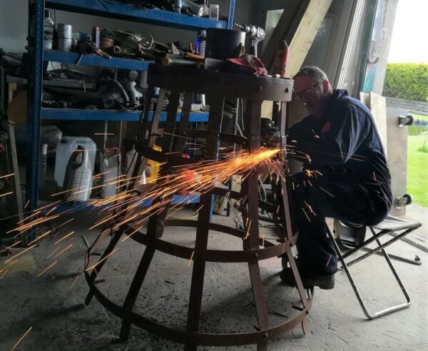
[[225, 29], [228, 26], [225, 21], [177, 14], [172, 11], [144, 9], [140, 6], [121, 4], [110, 0], [46, 0], [46, 8], [189, 30]]

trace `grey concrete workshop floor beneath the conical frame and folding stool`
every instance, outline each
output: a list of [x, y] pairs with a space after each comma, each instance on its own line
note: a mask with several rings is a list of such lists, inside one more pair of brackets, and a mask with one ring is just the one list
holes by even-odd
[[[418, 220], [428, 221], [428, 209], [412, 205], [407, 210]], [[180, 213], [185, 217], [188, 213]], [[88, 231], [94, 215], [78, 213], [70, 224], [74, 236], [55, 244], [57, 238], [46, 238], [39, 247], [29, 251], [35, 267], [6, 274], [0, 280], [0, 350], [11, 347], [32, 330], [19, 344], [18, 350], [181, 350], [182, 347], [133, 327], [127, 343], [116, 342], [120, 320], [105, 310], [96, 299], [85, 306], [88, 292], [81, 275], [83, 255], [88, 241], [96, 238], [98, 230]], [[63, 219], [61, 219], [61, 222]], [[215, 216], [219, 223], [230, 223], [230, 218]], [[427, 225], [410, 238], [428, 245]], [[193, 245], [195, 231], [186, 228], [167, 228], [165, 238], [182, 245]], [[267, 237], [270, 235], [266, 234]], [[210, 248], [240, 248], [237, 238], [210, 232]], [[71, 248], [54, 258], [47, 258], [58, 245]], [[118, 246], [105, 265], [98, 285], [115, 302], [123, 302], [131, 283], [143, 246], [126, 240]], [[62, 249], [61, 249], [62, 250]], [[427, 265], [428, 254], [399, 241], [390, 253], [407, 258], [418, 255], [422, 265], [394, 261], [404, 285], [412, 298], [406, 310], [377, 320], [367, 320], [344, 273], [336, 275], [334, 290], [315, 289], [312, 309], [308, 316], [310, 332], [300, 327], [277, 340], [271, 340], [269, 350], [428, 350]], [[5, 260], [4, 258], [0, 258]], [[37, 275], [57, 260], [57, 264], [39, 278]], [[271, 322], [278, 322], [295, 313], [291, 308], [298, 302], [293, 288], [280, 283], [277, 273], [280, 261], [260, 263], [264, 292]], [[188, 260], [156, 253], [151, 270], [136, 303], [136, 311], [170, 327], [183, 328], [188, 308], [188, 290], [192, 265]], [[404, 297], [387, 272], [384, 258], [372, 256], [352, 268], [357, 283], [371, 308], [402, 302]], [[76, 278], [78, 277], [78, 278]], [[76, 280], [77, 279], [77, 280]], [[294, 312], [293, 312], [294, 311]], [[252, 331], [256, 325], [248, 268], [244, 264], [211, 264], [206, 267], [201, 329], [213, 332]], [[255, 350], [245, 347], [199, 347], [198, 350]]]

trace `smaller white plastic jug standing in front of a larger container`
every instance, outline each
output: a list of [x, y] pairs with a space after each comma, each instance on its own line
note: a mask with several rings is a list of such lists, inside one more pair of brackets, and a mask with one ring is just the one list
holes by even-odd
[[87, 201], [92, 190], [92, 164], [89, 158], [89, 152], [86, 149], [78, 147], [76, 151], [78, 156], [76, 162], [68, 169], [68, 176], [73, 177], [68, 182], [67, 194], [68, 201]]

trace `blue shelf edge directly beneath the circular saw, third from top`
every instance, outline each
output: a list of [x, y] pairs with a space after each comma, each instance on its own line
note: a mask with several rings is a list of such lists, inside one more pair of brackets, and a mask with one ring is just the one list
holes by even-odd
[[[41, 118], [55, 121], [138, 121], [141, 111], [124, 112], [115, 110], [79, 110], [73, 108], [42, 108]], [[153, 112], [148, 115], [153, 119]], [[181, 113], [177, 113], [176, 121], [180, 121]], [[166, 112], [161, 113], [161, 121], [166, 121]], [[190, 112], [190, 122], [207, 122], [208, 113]]]

